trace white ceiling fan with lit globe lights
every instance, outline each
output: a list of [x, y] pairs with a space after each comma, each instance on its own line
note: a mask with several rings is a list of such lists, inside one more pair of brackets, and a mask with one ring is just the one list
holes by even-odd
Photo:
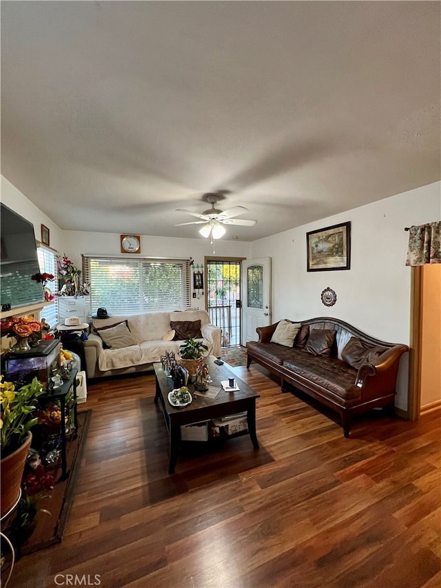
[[225, 235], [225, 228], [223, 225], [236, 225], [241, 227], [252, 227], [256, 224], [257, 221], [252, 221], [251, 219], [236, 219], [236, 216], [247, 212], [247, 208], [245, 206], [234, 206], [233, 208], [228, 208], [227, 210], [219, 210], [216, 208], [216, 203], [218, 202], [220, 196], [216, 193], [209, 193], [204, 194], [206, 201], [212, 205], [211, 208], [208, 210], [204, 210], [201, 214], [197, 212], [192, 212], [191, 210], [185, 210], [183, 208], [178, 208], [178, 212], [186, 212], [187, 214], [191, 214], [192, 216], [196, 216], [196, 219], [201, 219], [199, 221], [192, 221], [190, 223], [178, 223], [178, 225], [174, 225], [175, 227], [182, 227], [183, 225], [204, 225], [199, 232], [205, 238], [211, 236], [212, 242], [213, 239], [220, 239], [220, 237]]

